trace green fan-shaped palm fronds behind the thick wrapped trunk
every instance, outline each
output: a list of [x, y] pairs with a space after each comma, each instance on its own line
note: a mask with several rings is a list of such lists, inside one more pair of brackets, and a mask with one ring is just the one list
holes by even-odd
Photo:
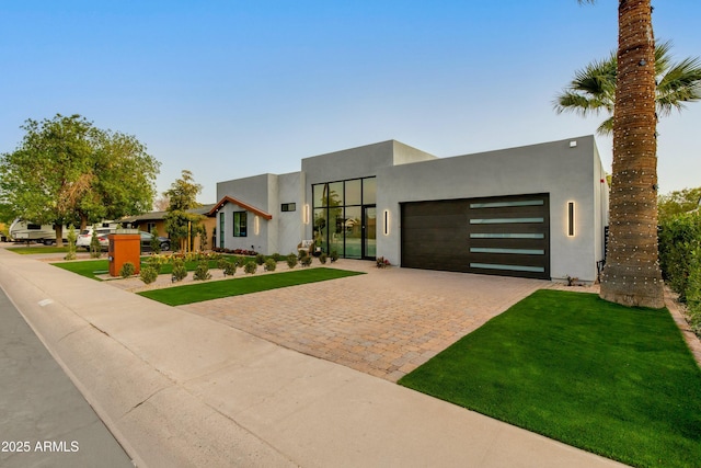
[[[701, 99], [701, 60], [698, 57], [686, 58], [673, 64], [670, 50], [670, 42], [655, 46], [655, 102], [659, 116], [667, 116], [675, 109], [681, 111], [685, 103]], [[617, 67], [616, 53], [611, 53], [608, 58], [595, 60], [577, 70], [570, 85], [555, 98], [555, 111], [582, 116], [598, 115], [604, 111], [609, 118], [597, 128], [597, 133], [610, 135], [613, 132]]]

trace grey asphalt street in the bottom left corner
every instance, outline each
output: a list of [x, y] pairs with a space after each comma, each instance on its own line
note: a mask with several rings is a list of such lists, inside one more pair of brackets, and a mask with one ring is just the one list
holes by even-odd
[[0, 289], [0, 466], [134, 467]]

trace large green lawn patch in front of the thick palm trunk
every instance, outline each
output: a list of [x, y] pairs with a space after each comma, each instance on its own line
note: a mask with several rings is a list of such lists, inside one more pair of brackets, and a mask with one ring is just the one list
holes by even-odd
[[701, 466], [701, 369], [666, 309], [539, 290], [399, 384], [632, 466]]

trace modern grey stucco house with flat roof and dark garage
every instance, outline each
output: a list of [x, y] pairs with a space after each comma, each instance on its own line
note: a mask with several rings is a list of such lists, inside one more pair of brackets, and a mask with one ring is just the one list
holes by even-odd
[[390, 140], [217, 184], [216, 243], [314, 239], [342, 258], [538, 278], [597, 278], [608, 185], [593, 136], [452, 158]]

